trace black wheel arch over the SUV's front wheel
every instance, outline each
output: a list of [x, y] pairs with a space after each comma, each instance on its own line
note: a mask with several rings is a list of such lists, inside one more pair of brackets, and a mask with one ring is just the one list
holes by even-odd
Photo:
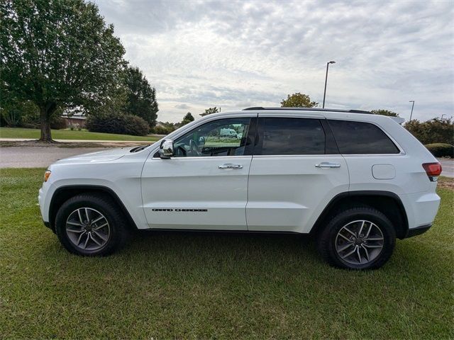
[[123, 215], [126, 217], [126, 221], [128, 222], [128, 227], [130, 229], [138, 229], [133, 218], [131, 217], [131, 214], [128, 212], [118, 195], [111, 188], [106, 186], [62, 186], [57, 188], [55, 193], [52, 195], [49, 205], [49, 222], [50, 228], [53, 232], [55, 232], [55, 217], [57, 216], [57, 212], [62, 204], [74, 196], [80, 194], [89, 195], [90, 193], [94, 195], [106, 196], [111, 199], [116, 205], [118, 205], [121, 212], [123, 212]]

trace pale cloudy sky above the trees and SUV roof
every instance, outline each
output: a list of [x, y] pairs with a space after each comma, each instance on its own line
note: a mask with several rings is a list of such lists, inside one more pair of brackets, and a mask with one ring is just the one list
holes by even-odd
[[454, 0], [95, 0], [155, 87], [157, 120], [206, 108], [280, 106], [301, 92], [326, 108], [454, 115]]

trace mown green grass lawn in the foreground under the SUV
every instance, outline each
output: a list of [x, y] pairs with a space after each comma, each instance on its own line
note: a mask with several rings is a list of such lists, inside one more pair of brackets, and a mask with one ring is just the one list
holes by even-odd
[[145, 233], [113, 256], [74, 256], [40, 220], [43, 172], [0, 172], [0, 339], [454, 336], [448, 188], [426, 234], [358, 273], [283, 236]]

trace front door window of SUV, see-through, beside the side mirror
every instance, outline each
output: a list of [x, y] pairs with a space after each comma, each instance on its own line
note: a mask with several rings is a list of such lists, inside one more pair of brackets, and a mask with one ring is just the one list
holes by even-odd
[[194, 128], [175, 140], [175, 157], [243, 156], [249, 125], [250, 118], [228, 118]]

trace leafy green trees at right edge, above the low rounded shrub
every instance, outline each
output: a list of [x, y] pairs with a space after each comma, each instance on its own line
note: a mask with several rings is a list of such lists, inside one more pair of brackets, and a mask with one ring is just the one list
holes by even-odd
[[454, 124], [450, 118], [433, 118], [426, 122], [413, 119], [406, 122], [404, 128], [424, 145], [433, 143], [454, 145]]

